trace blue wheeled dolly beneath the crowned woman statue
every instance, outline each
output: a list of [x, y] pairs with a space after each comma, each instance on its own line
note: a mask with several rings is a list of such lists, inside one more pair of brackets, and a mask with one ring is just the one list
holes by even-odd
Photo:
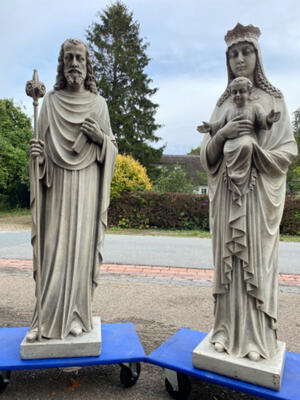
[[263, 399], [300, 400], [299, 354], [286, 352], [281, 390], [274, 391], [194, 368], [192, 352], [205, 336], [203, 332], [180, 329], [147, 357], [148, 363], [164, 368], [166, 389], [172, 398], [188, 398], [191, 390], [190, 376]]

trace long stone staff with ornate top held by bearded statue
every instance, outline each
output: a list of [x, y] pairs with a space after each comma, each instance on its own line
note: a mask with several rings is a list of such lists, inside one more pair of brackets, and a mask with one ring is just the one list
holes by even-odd
[[[37, 129], [37, 118], [38, 118], [38, 107], [39, 98], [43, 97], [46, 93], [45, 85], [39, 81], [37, 70], [33, 70], [33, 77], [31, 81], [26, 83], [25, 88], [26, 94], [33, 98], [33, 110], [34, 110], [34, 138], [39, 139], [39, 133]], [[40, 193], [39, 193], [39, 157], [34, 160], [35, 169], [35, 193], [36, 193], [36, 293], [37, 293], [37, 314], [38, 314], [38, 341], [41, 341], [42, 330], [42, 307], [41, 307], [41, 256], [40, 256]]]

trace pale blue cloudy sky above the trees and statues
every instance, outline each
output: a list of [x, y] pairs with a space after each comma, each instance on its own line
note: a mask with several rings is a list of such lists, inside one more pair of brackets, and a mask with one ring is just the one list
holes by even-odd
[[[124, 0], [149, 43], [146, 68], [159, 90], [158, 145], [166, 154], [187, 154], [201, 144], [196, 126], [209, 120], [227, 84], [224, 36], [237, 22], [262, 32], [260, 46], [268, 80], [285, 97], [291, 118], [300, 108], [299, 0]], [[105, 0], [1, 0], [0, 98], [13, 98], [33, 115], [25, 84], [34, 68], [51, 90], [61, 43], [85, 40], [99, 22]]]

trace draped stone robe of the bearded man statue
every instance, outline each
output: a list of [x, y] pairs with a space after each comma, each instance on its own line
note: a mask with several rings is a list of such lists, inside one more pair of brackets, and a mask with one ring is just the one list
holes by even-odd
[[[83, 139], [74, 145], [85, 118], [92, 116], [104, 133], [102, 145]], [[72, 324], [92, 327], [91, 302], [99, 281], [110, 183], [117, 148], [105, 100], [88, 91], [48, 92], [39, 116], [45, 143], [40, 165], [40, 254], [42, 336], [64, 338]], [[32, 245], [36, 266], [36, 187], [31, 165]], [[34, 270], [34, 276], [36, 270]], [[37, 307], [31, 328], [37, 326]]]

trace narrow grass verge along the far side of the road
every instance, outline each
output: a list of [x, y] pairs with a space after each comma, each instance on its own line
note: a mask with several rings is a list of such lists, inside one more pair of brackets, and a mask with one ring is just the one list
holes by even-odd
[[[11, 211], [0, 211], [0, 231], [25, 231], [31, 229], [31, 213], [28, 209], [17, 209]], [[210, 238], [208, 231], [198, 230], [165, 230], [165, 229], [123, 229], [110, 227], [108, 233], [124, 235], [153, 235], [153, 236], [183, 236]], [[300, 242], [300, 235], [280, 235], [280, 240], [285, 242]]]

